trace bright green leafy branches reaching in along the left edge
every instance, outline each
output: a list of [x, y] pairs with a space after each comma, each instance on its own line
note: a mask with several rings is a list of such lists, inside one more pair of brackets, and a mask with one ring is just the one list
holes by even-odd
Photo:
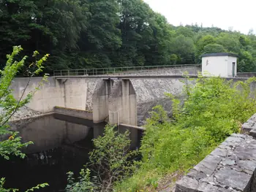
[[[12, 95], [12, 89], [10, 88], [10, 85], [12, 83], [13, 78], [19, 72], [19, 70], [22, 69], [27, 59], [27, 57], [24, 56], [20, 59], [20, 61], [16, 61], [16, 58], [18, 58], [18, 54], [20, 53], [21, 50], [23, 49], [20, 46], [13, 47], [12, 54], [7, 55], [7, 63], [4, 66], [4, 69], [0, 71], [0, 156], [7, 160], [10, 159], [10, 155], [16, 155], [19, 156], [20, 158], [24, 158], [25, 154], [23, 154], [20, 150], [23, 147], [27, 147], [28, 145], [32, 144], [32, 142], [22, 143], [21, 138], [18, 137], [18, 132], [13, 132], [8, 129], [8, 122], [10, 118], [12, 118], [12, 116], [15, 114], [15, 112], [17, 112], [20, 109], [20, 107], [23, 107], [25, 104], [29, 103], [31, 97], [42, 85], [42, 82], [47, 79], [46, 76], [42, 77], [42, 81], [39, 82], [37, 88], [35, 88], [34, 91], [31, 91], [25, 96], [25, 91], [27, 86], [29, 85], [30, 78], [42, 72], [42, 69], [44, 68], [42, 64], [48, 58], [48, 54], [46, 54], [45, 56], [37, 60], [37, 55], [39, 53], [37, 51], [34, 51], [33, 57], [35, 58], [35, 61], [32, 62], [26, 70], [26, 74], [29, 75], [29, 81], [27, 82], [26, 88], [24, 88], [24, 91], [22, 93], [22, 96], [20, 96], [20, 99], [15, 99], [15, 97]], [[0, 191], [18, 191], [17, 189], [5, 189], [4, 181], [4, 178], [1, 178]], [[37, 185], [34, 188], [29, 189], [26, 192], [34, 191], [35, 189], [43, 188], [47, 185], [48, 184], [43, 183]]]

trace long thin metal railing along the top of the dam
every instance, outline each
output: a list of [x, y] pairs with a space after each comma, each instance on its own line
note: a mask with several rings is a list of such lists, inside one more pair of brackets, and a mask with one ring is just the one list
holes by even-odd
[[[201, 64], [189, 65], [170, 65], [170, 66], [125, 66], [125, 67], [110, 67], [97, 69], [64, 69], [53, 71], [53, 76], [91, 76], [91, 75], [109, 75], [109, 74], [132, 74], [140, 72], [140, 74], [147, 74], [149, 72], [165, 72], [167, 69], [186, 69], [190, 67], [199, 68]], [[194, 74], [194, 73], [193, 73]], [[197, 72], [195, 71], [195, 74]]]

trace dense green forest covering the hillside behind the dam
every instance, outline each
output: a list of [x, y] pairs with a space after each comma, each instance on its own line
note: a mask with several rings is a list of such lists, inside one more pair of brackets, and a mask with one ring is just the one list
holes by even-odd
[[221, 28], [172, 26], [141, 0], [1, 0], [0, 64], [12, 46], [50, 54], [53, 69], [198, 64], [203, 53], [239, 55], [256, 66], [256, 37]]

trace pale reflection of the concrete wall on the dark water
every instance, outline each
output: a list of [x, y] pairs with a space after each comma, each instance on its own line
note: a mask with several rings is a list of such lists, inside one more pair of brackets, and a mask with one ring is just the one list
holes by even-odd
[[35, 153], [84, 139], [89, 130], [88, 126], [46, 116], [19, 128], [18, 131], [24, 142], [34, 142], [34, 145], [29, 145], [24, 152]]

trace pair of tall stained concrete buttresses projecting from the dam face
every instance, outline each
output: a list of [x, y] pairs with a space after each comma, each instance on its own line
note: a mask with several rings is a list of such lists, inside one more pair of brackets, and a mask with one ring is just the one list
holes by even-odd
[[102, 80], [93, 94], [93, 120], [137, 126], [137, 99], [130, 80]]

